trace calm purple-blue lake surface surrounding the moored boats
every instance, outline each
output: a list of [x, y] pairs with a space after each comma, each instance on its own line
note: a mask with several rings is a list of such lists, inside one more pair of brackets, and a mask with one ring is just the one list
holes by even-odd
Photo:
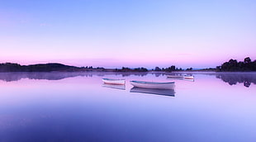
[[[175, 89], [144, 93], [130, 80]], [[0, 90], [0, 142], [256, 141], [256, 73], [0, 73]]]

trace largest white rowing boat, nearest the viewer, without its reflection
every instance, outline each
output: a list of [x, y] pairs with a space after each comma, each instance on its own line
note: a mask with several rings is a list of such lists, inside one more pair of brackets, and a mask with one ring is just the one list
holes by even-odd
[[174, 82], [160, 83], [160, 82], [130, 81], [130, 83], [137, 88], [174, 89]]

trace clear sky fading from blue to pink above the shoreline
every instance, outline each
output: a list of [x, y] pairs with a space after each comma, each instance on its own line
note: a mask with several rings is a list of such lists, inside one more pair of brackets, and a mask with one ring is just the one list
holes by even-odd
[[209, 68], [248, 56], [254, 0], [0, 0], [0, 63]]

